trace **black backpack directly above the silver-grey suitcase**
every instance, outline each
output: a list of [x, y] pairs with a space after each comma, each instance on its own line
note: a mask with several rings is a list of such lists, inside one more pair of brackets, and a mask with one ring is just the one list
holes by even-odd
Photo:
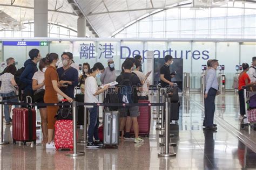
[[[103, 103], [119, 103], [119, 98], [116, 91], [114, 91], [113, 89], [109, 89], [107, 91], [107, 94]], [[115, 106], [104, 107], [104, 110], [106, 110], [106, 108], [109, 108], [110, 111], [118, 110], [118, 107], [115, 107]]]

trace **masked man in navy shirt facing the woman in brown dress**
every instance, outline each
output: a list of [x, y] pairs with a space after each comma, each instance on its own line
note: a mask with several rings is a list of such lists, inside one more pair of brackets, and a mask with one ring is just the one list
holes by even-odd
[[78, 72], [77, 69], [71, 67], [73, 54], [63, 52], [62, 63], [63, 67], [57, 69], [59, 76], [60, 90], [71, 98], [74, 97], [75, 87], [78, 85]]

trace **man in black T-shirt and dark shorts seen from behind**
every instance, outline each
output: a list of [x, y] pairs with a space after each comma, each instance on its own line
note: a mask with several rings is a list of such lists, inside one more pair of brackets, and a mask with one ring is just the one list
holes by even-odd
[[[136, 74], [132, 74], [132, 67], [134, 63], [131, 60], [126, 60], [123, 63], [123, 68], [124, 68], [124, 73], [119, 75], [117, 77], [117, 91], [118, 94], [120, 94], [120, 90], [123, 88], [122, 81], [124, 79], [129, 79], [130, 80], [130, 85], [132, 87], [132, 95], [131, 95], [131, 103], [138, 103], [138, 95], [137, 95], [137, 88], [139, 91], [142, 91], [142, 83], [139, 80], [139, 77]], [[126, 84], [124, 84], [126, 85]], [[129, 86], [128, 84], [126, 86]], [[129, 102], [129, 103], [130, 103]], [[122, 107], [119, 108], [120, 112], [120, 134], [124, 130], [125, 126], [125, 136], [124, 138], [130, 138], [130, 130], [131, 130], [131, 125], [133, 124], [133, 130], [135, 133], [135, 139], [134, 143], [143, 143], [144, 140], [139, 138], [139, 124], [137, 121], [137, 117], [139, 116], [139, 107], [134, 106], [134, 107]], [[130, 113], [130, 116], [128, 117], [128, 112]], [[127, 118], [128, 117], [128, 118]], [[127, 121], [126, 121], [127, 119]]]

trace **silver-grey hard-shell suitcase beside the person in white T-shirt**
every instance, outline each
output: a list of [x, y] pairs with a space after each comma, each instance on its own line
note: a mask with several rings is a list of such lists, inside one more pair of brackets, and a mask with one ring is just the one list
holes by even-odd
[[103, 144], [118, 146], [119, 144], [119, 112], [105, 111], [103, 119]]

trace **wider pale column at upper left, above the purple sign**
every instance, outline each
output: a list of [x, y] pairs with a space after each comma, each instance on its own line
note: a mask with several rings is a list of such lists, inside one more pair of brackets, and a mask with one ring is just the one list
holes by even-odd
[[48, 0], [34, 0], [34, 37], [48, 37]]

